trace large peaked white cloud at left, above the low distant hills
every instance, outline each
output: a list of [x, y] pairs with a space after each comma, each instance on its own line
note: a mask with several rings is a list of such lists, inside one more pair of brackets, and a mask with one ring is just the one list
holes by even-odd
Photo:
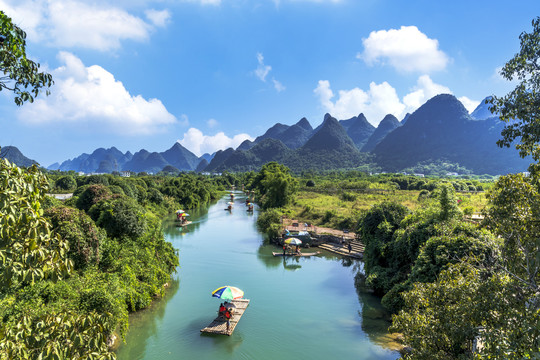
[[160, 100], [131, 95], [102, 67], [86, 67], [68, 52], [60, 52], [58, 57], [64, 65], [52, 71], [52, 94], [21, 107], [19, 120], [38, 126], [71, 124], [81, 130], [120, 135], [161, 132], [177, 123]]

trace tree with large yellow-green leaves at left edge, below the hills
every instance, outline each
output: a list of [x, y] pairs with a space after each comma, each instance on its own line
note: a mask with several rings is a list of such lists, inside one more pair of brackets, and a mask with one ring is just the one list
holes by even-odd
[[[22, 170], [0, 159], [0, 282], [60, 279], [71, 269], [68, 243], [43, 217], [46, 177], [34, 165]], [[0, 287], [1, 288], [1, 287]]]

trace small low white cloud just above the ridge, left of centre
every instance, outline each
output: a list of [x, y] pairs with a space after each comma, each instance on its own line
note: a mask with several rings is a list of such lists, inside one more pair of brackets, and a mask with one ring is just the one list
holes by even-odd
[[248, 134], [238, 134], [232, 138], [223, 132], [215, 135], [204, 135], [201, 130], [190, 128], [178, 142], [195, 155], [201, 156], [204, 153], [212, 154], [230, 147], [237, 148], [245, 140], [253, 141], [254, 139]]

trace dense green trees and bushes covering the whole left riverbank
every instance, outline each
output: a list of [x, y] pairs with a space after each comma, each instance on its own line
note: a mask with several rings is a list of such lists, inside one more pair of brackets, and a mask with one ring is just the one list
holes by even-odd
[[[113, 358], [128, 313], [162, 296], [178, 266], [161, 218], [242, 180], [46, 176], [0, 159], [0, 358]], [[50, 188], [74, 195], [62, 203]]]

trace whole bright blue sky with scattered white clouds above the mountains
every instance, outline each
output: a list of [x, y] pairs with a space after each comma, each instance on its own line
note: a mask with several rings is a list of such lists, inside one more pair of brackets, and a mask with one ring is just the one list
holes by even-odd
[[431, 97], [472, 111], [540, 1], [0, 0], [51, 73], [49, 96], [0, 91], [0, 145], [43, 166], [115, 146], [197, 156], [276, 123], [364, 113], [377, 126]]

